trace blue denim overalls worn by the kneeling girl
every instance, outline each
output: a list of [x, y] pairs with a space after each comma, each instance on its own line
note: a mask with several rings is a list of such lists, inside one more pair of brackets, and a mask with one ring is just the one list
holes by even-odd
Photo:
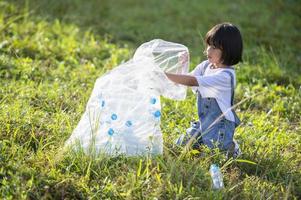
[[[206, 68], [210, 64], [204, 66], [201, 76], [203, 76]], [[233, 106], [234, 97], [234, 77], [229, 71], [223, 72], [231, 76], [231, 107]], [[201, 144], [207, 145], [209, 148], [219, 148], [222, 151], [231, 150], [233, 154], [238, 154], [238, 144], [233, 141], [235, 127], [240, 124], [240, 120], [232, 109], [235, 122], [229, 121], [223, 115], [215, 98], [202, 98], [197, 92], [197, 106], [199, 121], [192, 122], [191, 127], [187, 129], [186, 134], [181, 135], [176, 144], [187, 145], [191, 143], [193, 149], [198, 149]]]

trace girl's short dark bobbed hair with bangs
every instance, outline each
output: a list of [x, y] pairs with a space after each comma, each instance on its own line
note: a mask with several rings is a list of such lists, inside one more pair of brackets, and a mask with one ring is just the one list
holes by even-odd
[[222, 63], [236, 65], [242, 61], [242, 37], [238, 28], [230, 23], [215, 25], [205, 38], [206, 46], [213, 45], [222, 50]]

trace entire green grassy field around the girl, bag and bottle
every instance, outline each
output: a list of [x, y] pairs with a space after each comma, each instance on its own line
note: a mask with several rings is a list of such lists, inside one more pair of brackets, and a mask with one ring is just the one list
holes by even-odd
[[[1, 0], [0, 198], [301, 199], [300, 13], [297, 0]], [[62, 155], [97, 77], [154, 38], [186, 45], [192, 69], [223, 21], [245, 42], [239, 159], [173, 145], [197, 117], [191, 92], [162, 99], [163, 156]], [[211, 163], [223, 190], [211, 189]]]

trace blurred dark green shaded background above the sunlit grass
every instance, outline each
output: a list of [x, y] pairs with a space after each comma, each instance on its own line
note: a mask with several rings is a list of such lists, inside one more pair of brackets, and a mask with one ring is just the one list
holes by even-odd
[[182, 43], [203, 59], [203, 37], [215, 24], [231, 22], [243, 35], [245, 59], [256, 62], [258, 47], [276, 55], [283, 68], [300, 72], [300, 2], [293, 0], [12, 0], [36, 20], [55, 20], [92, 30], [131, 48], [152, 40]]

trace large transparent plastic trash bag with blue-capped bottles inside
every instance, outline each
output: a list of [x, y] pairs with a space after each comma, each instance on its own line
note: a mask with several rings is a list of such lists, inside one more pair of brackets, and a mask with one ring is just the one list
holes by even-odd
[[162, 154], [160, 96], [186, 97], [186, 87], [171, 82], [164, 72], [186, 74], [188, 65], [184, 45], [160, 39], [142, 44], [131, 60], [96, 80], [65, 147], [110, 155]]

